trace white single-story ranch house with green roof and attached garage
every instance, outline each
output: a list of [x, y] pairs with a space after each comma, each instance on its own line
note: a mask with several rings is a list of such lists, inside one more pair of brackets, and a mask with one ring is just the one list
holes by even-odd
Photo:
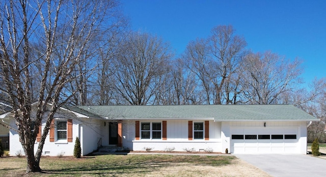
[[[52, 122], [43, 154], [73, 155], [75, 137], [80, 139], [82, 155], [100, 145], [133, 151], [174, 147], [174, 151], [306, 154], [310, 121], [319, 120], [293, 105], [66, 107]], [[22, 151], [18, 134], [10, 130], [10, 155], [18, 151]]]

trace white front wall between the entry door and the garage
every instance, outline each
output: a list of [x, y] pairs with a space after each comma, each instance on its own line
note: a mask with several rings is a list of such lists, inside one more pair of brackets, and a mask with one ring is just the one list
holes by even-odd
[[[166, 127], [164, 126], [166, 121]], [[203, 139], [188, 138], [188, 124], [192, 121], [202, 122], [204, 124]], [[206, 121], [206, 122], [205, 122]], [[145, 122], [161, 122], [162, 138], [161, 139], [142, 139], [140, 131], [141, 123]], [[137, 127], [136, 127], [137, 126]], [[166, 128], [166, 138], [164, 138], [164, 127]], [[206, 130], [208, 127], [208, 130]], [[174, 147], [174, 151], [184, 151], [184, 149], [192, 149], [195, 151], [204, 151], [211, 149], [213, 152], [221, 152], [221, 123], [215, 123], [213, 120], [137, 120], [124, 121], [123, 146], [133, 151], [144, 151], [145, 147], [152, 148], [153, 151], [164, 151], [167, 148]], [[207, 136], [207, 132], [209, 136]], [[139, 135], [139, 138], [138, 138]], [[206, 139], [205, 139], [206, 138]]]

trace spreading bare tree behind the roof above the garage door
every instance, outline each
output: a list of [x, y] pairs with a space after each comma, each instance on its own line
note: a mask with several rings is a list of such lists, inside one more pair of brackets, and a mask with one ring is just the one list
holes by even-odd
[[275, 53], [250, 53], [241, 74], [241, 90], [249, 104], [277, 104], [281, 94], [294, 91], [301, 82], [301, 62], [287, 61]]

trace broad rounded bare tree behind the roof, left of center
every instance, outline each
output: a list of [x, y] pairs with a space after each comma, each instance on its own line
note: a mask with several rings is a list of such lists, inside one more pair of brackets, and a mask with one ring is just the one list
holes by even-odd
[[116, 91], [127, 104], [153, 104], [171, 58], [168, 43], [147, 33], [131, 33], [116, 56]]

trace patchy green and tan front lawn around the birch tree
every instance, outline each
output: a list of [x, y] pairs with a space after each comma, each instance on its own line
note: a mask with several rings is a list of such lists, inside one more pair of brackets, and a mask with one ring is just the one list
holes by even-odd
[[[101, 155], [80, 159], [72, 157], [42, 157], [44, 173], [33, 176], [143, 176], [173, 165], [223, 166], [231, 164], [234, 156], [180, 155]], [[0, 176], [16, 176], [25, 172], [25, 158], [0, 158]]]

